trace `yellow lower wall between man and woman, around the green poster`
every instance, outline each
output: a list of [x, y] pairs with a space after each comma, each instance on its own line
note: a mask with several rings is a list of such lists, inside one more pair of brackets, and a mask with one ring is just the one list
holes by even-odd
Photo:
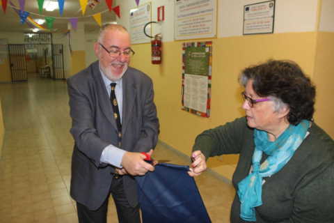
[[[186, 155], [191, 154], [193, 141], [200, 132], [244, 115], [237, 79], [246, 66], [267, 59], [290, 59], [299, 63], [310, 77], [315, 70], [317, 32], [236, 36], [212, 39], [212, 42], [212, 110], [209, 118], [181, 109], [183, 41], [163, 43], [161, 65], [151, 64], [150, 44], [133, 45], [137, 53], [131, 65], [146, 72], [154, 82], [161, 123], [159, 139]], [[208, 164], [214, 171], [230, 178], [237, 159], [237, 155], [224, 155], [210, 159]]]

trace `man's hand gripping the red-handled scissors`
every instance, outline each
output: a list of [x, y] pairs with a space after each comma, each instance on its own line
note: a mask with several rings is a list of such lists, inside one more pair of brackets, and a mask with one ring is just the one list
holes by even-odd
[[[148, 155], [152, 155], [151, 149]], [[126, 152], [122, 157], [123, 169], [132, 176], [144, 175], [147, 171], [154, 171], [154, 167], [145, 162], [145, 155], [141, 153]]]

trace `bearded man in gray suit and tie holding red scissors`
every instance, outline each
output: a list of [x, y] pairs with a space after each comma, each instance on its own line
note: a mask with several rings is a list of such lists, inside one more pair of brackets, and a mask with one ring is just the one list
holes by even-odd
[[119, 222], [141, 222], [134, 176], [154, 171], [159, 121], [150, 77], [129, 67], [127, 30], [108, 24], [94, 46], [98, 61], [67, 79], [72, 154], [70, 194], [79, 222], [106, 222], [109, 194]]

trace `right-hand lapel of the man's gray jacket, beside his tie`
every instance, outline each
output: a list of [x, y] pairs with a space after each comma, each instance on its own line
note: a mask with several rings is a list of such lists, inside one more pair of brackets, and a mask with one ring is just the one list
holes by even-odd
[[132, 117], [132, 108], [134, 107], [134, 100], [136, 99], [136, 84], [132, 77], [131, 68], [127, 69], [122, 77], [123, 84], [123, 112], [122, 112], [122, 133], [127, 129], [130, 118]]

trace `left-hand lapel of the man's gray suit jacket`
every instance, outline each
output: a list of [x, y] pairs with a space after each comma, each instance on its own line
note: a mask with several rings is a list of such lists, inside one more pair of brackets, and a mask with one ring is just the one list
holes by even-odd
[[116, 128], [117, 130], [116, 121], [115, 118], [113, 118], [113, 107], [111, 106], [111, 102], [106, 91], [106, 86], [104, 85], [103, 79], [101, 77], [102, 74], [100, 72], [98, 61], [93, 64], [91, 72], [93, 73], [93, 79], [95, 81], [97, 91], [97, 98], [100, 101], [102, 112], [111, 123], [111, 125], [113, 125], [113, 128]]

